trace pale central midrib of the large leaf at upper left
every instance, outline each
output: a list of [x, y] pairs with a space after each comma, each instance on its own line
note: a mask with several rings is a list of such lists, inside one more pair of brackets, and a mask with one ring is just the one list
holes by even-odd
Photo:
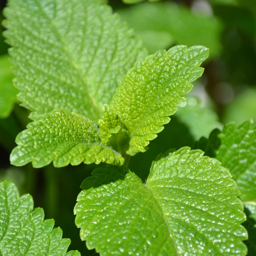
[[40, 6], [40, 4], [39, 4], [38, 2], [37, 2], [37, 4], [38, 4], [38, 7], [41, 9], [41, 13], [50, 21], [50, 24], [52, 25], [52, 28], [53, 28], [54, 31], [55, 31], [55, 36], [57, 36], [57, 38], [59, 39], [59, 41], [60, 41], [60, 43], [61, 43], [61, 45], [62, 45], [62, 48], [63, 48], [64, 52], [66, 53], [66, 56], [69, 58], [69, 60], [70, 60], [70, 62], [71, 62], [71, 64], [72, 64], [72, 66], [73, 66], [73, 68], [77, 71], [78, 76], [79, 76], [79, 78], [81, 79], [82, 83], [85, 85], [85, 89], [86, 89], [87, 92], [88, 92], [88, 96], [89, 96], [90, 100], [92, 101], [92, 104], [93, 104], [93, 106], [94, 106], [94, 108], [95, 108], [95, 110], [96, 110], [96, 112], [97, 112], [99, 118], [101, 118], [101, 111], [100, 111], [100, 108], [99, 108], [99, 106], [97, 105], [97, 102], [95, 101], [94, 97], [92, 96], [92, 93], [90, 92], [90, 89], [88, 88], [88, 85], [87, 85], [87, 83], [86, 83], [86, 81], [85, 81], [85, 79], [84, 79], [84, 77], [83, 77], [83, 75], [82, 75], [80, 69], [78, 68], [78, 65], [77, 65], [76, 62], [73, 60], [73, 58], [71, 57], [71, 55], [70, 55], [70, 53], [69, 53], [69, 51], [68, 51], [66, 45], [64, 44], [64, 41], [62, 40], [62, 36], [59, 34], [59, 32], [58, 32], [58, 30], [57, 30], [57, 28], [56, 28], [56, 26], [55, 26], [55, 21], [52, 20], [52, 19], [50, 19], [50, 18], [47, 16], [47, 14], [44, 12], [44, 9], [41, 8], [41, 6]]

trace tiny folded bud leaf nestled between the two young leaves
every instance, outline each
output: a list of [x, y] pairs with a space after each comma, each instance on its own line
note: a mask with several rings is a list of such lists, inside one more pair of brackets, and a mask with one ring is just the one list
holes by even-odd
[[114, 147], [121, 154], [126, 152], [129, 141], [128, 131], [123, 127], [114, 109], [107, 104], [103, 107], [99, 127], [103, 145]]

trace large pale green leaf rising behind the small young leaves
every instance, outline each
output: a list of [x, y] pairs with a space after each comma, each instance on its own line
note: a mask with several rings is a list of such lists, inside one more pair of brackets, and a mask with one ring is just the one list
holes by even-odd
[[4, 14], [18, 98], [32, 119], [65, 108], [97, 123], [121, 78], [146, 54], [98, 0], [10, 0]]

